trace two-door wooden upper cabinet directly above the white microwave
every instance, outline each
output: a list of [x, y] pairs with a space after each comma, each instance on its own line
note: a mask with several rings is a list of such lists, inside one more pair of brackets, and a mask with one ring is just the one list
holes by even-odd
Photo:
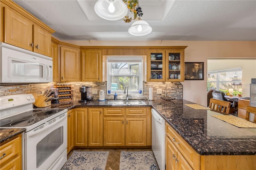
[[4, 12], [1, 17], [4, 22], [1, 23], [1, 42], [42, 55], [51, 55], [51, 34], [54, 30], [12, 1], [1, 1], [2, 9]]

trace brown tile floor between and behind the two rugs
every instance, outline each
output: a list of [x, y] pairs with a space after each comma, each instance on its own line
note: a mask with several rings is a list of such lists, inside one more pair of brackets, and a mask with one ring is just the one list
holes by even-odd
[[[124, 151], [152, 151], [152, 149], [126, 149], [126, 148], [113, 148], [113, 149], [75, 149], [78, 151], [109, 151], [108, 160], [105, 170], [119, 170], [120, 154], [121, 150]], [[68, 158], [73, 153], [71, 150], [68, 153]]]

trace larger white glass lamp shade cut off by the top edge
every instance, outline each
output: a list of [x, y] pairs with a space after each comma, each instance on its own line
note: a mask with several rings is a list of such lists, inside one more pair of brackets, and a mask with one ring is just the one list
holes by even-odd
[[110, 21], [120, 20], [128, 12], [128, 8], [122, 0], [98, 0], [94, 10], [100, 18]]

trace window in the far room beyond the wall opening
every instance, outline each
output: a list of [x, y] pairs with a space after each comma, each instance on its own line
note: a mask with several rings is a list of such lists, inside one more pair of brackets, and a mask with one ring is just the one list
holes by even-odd
[[228, 92], [228, 89], [234, 89], [235, 93], [242, 92], [242, 68], [208, 71], [207, 75], [208, 90]]

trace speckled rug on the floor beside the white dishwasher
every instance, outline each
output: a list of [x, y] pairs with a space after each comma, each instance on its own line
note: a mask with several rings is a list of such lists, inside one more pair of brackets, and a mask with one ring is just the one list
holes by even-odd
[[119, 170], [159, 170], [152, 151], [121, 151]]

